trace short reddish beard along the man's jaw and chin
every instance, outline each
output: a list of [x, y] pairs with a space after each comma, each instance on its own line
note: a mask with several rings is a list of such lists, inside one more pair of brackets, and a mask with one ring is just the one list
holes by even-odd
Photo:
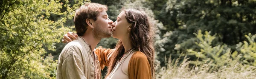
[[93, 30], [93, 37], [96, 39], [102, 39], [102, 38], [107, 38], [107, 37], [111, 37], [112, 36], [112, 32], [109, 33], [107, 30], [104, 30], [103, 28], [100, 27], [94, 27]]

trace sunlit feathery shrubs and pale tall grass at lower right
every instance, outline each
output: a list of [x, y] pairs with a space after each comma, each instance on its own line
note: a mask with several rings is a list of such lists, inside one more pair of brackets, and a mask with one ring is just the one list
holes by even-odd
[[[256, 73], [255, 67], [255, 35], [245, 35], [247, 41], [239, 43], [236, 46], [237, 51], [231, 52], [227, 45], [212, 46], [212, 41], [216, 35], [210, 35], [205, 31], [202, 34], [201, 30], [195, 34], [198, 38], [196, 45], [200, 47], [200, 51], [188, 49], [190, 55], [195, 55], [198, 60], [188, 61], [185, 55], [183, 60], [181, 56], [176, 60], [170, 58], [166, 67], [159, 69], [156, 74], [159, 79], [253, 79]], [[180, 63], [180, 61], [182, 61]], [[180, 64], [179, 64], [180, 63]]]

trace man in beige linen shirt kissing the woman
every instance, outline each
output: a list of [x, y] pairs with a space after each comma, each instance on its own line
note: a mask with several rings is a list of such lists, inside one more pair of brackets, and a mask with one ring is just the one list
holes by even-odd
[[87, 3], [76, 10], [77, 40], [69, 42], [58, 59], [57, 79], [101, 79], [99, 61], [92, 52], [102, 38], [111, 37], [107, 6]]

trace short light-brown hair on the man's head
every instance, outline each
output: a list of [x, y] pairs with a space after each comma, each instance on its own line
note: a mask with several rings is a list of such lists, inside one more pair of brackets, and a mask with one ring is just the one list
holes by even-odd
[[85, 33], [88, 26], [85, 21], [86, 19], [93, 19], [96, 21], [99, 13], [107, 10], [107, 6], [99, 3], [86, 3], [78, 8], [74, 17], [76, 34], [80, 37]]

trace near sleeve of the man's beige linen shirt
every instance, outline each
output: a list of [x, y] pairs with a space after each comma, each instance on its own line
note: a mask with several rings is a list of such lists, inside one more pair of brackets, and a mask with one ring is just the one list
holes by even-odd
[[61, 69], [65, 79], [86, 79], [81, 57], [77, 53], [81, 51], [75, 51], [72, 48], [68, 50]]

